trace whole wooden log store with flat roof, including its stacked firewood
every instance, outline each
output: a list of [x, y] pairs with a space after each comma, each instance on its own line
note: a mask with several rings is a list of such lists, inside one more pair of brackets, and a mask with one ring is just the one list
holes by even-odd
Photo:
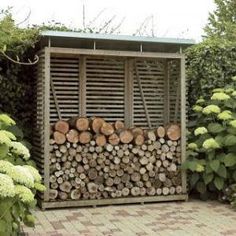
[[33, 157], [42, 208], [186, 200], [192, 40], [44, 31]]

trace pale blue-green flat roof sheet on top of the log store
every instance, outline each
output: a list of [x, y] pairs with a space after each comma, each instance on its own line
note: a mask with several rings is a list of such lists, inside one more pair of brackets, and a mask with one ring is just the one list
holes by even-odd
[[42, 31], [42, 36], [56, 38], [74, 38], [74, 39], [94, 39], [108, 41], [126, 41], [139, 43], [162, 43], [176, 45], [193, 45], [195, 40], [182, 38], [159, 38], [159, 37], [143, 37], [143, 36], [128, 36], [128, 35], [113, 35], [113, 34], [95, 34], [95, 33], [79, 33], [67, 31]]

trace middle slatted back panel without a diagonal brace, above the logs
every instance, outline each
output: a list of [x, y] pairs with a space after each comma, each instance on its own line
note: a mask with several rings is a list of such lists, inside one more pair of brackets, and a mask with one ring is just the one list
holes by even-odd
[[124, 121], [125, 69], [120, 58], [86, 58], [86, 114]]

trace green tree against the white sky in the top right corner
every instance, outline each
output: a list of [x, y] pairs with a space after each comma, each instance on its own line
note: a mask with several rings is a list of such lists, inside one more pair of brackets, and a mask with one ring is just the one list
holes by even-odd
[[236, 0], [214, 0], [216, 9], [210, 13], [205, 27], [207, 37], [236, 39]]

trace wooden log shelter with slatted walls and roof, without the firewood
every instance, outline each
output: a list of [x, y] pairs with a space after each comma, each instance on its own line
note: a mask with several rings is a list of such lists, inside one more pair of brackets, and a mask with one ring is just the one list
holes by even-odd
[[[126, 127], [181, 127], [185, 159], [186, 85], [183, 50], [187, 39], [44, 31], [38, 45], [33, 157], [47, 187], [43, 208], [186, 200], [181, 191], [151, 196], [50, 200], [50, 126], [74, 116], [120, 120]], [[179, 164], [180, 164], [179, 163]]]

